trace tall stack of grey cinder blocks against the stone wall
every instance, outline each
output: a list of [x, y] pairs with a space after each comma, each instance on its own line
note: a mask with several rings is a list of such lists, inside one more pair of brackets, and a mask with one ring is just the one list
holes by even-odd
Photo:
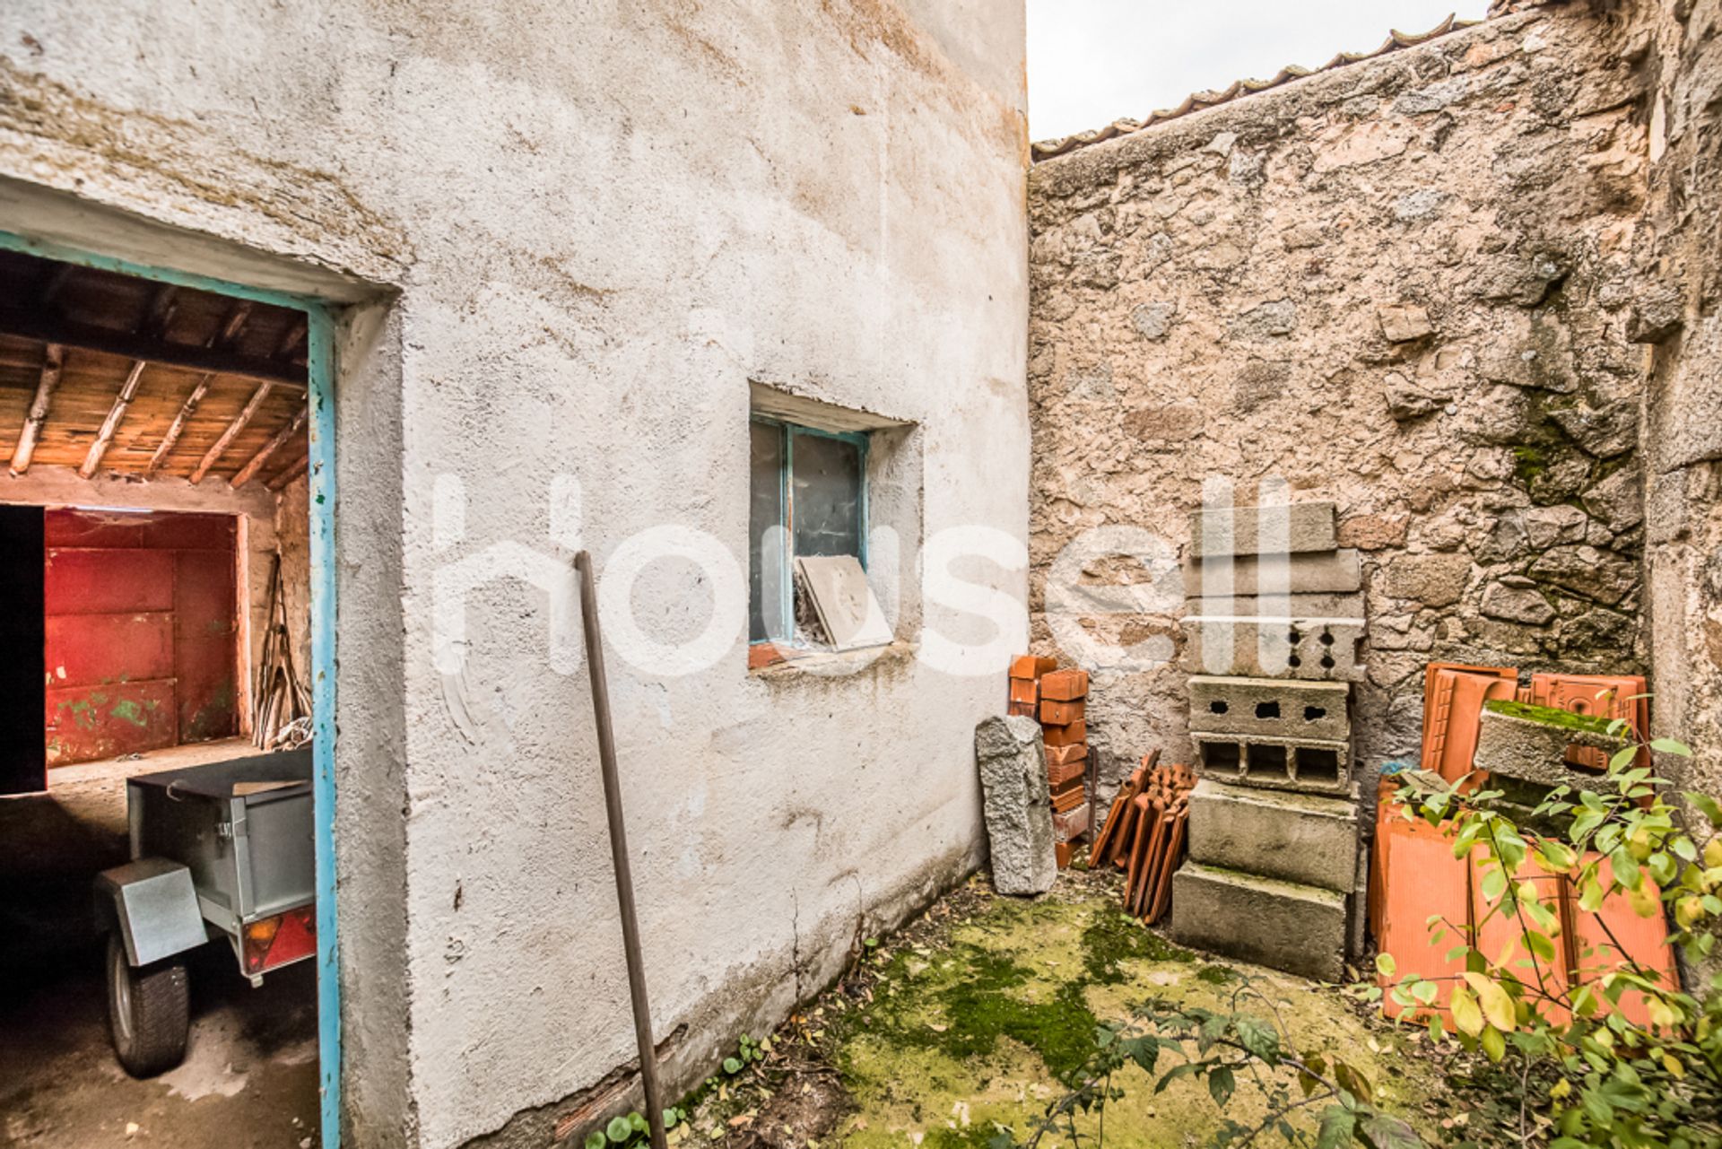
[[1200, 782], [1173, 934], [1340, 980], [1362, 944], [1350, 682], [1362, 572], [1333, 503], [1192, 520], [1183, 667]]

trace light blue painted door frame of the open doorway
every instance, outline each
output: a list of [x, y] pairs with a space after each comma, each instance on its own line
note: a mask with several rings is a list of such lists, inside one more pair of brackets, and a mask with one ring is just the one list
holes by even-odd
[[0, 231], [0, 250], [257, 300], [305, 314], [310, 403], [312, 724], [317, 849], [317, 1061], [322, 1149], [341, 1146], [341, 965], [334, 915], [334, 319], [322, 300], [150, 267]]

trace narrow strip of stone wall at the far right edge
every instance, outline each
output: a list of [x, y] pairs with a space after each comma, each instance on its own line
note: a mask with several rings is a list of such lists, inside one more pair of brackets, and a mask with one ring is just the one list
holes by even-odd
[[1682, 780], [1722, 794], [1722, 3], [1646, 0], [1629, 16], [1651, 158], [1638, 336], [1653, 722], [1698, 751]]

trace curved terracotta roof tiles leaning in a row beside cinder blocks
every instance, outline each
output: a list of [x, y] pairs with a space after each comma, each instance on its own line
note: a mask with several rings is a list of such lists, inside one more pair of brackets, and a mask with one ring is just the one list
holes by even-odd
[[1088, 865], [1106, 858], [1124, 870], [1124, 911], [1150, 925], [1173, 899], [1173, 872], [1183, 861], [1190, 820], [1190, 767], [1161, 767], [1161, 751], [1142, 760], [1112, 799], [1106, 825], [1093, 839]]

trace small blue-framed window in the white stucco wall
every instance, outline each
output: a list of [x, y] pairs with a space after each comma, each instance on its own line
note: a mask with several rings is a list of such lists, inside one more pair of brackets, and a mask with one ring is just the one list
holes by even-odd
[[754, 417], [747, 572], [751, 643], [792, 646], [796, 558], [854, 556], [866, 568], [866, 434]]

